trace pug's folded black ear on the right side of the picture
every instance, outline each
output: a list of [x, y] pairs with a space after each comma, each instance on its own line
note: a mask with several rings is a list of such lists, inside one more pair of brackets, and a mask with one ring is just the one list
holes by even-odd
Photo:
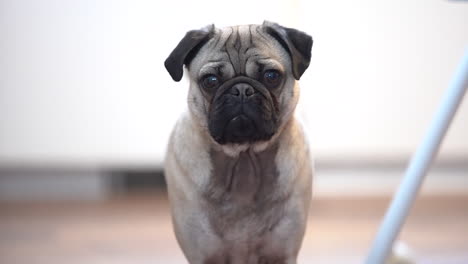
[[263, 27], [288, 51], [291, 56], [294, 78], [299, 80], [309, 67], [312, 52], [312, 37], [294, 28], [287, 28], [265, 21]]

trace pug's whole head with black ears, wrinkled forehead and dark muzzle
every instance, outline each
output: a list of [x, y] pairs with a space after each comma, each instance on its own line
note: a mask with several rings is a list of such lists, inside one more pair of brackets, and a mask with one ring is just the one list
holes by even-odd
[[278, 131], [294, 92], [292, 80], [307, 69], [311, 47], [307, 34], [274, 23], [211, 26], [188, 32], [165, 66], [175, 81], [182, 78], [183, 65], [188, 67], [216, 142], [254, 143]]

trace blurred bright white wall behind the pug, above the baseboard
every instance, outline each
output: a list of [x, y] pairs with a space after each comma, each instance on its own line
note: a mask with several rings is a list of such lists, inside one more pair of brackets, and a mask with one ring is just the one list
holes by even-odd
[[[314, 37], [302, 103], [324, 159], [411, 153], [468, 46], [450, 1], [0, 0], [0, 165], [160, 164], [187, 91], [164, 59], [187, 30], [263, 19]], [[465, 102], [445, 155], [468, 157], [467, 124]]]

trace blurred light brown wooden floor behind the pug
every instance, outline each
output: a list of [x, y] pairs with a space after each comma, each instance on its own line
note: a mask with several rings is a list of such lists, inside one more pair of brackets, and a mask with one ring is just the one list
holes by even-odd
[[[299, 263], [363, 263], [388, 204], [317, 198]], [[417, 263], [468, 263], [468, 196], [421, 198], [400, 238]], [[0, 263], [187, 263], [164, 194], [0, 203]]]

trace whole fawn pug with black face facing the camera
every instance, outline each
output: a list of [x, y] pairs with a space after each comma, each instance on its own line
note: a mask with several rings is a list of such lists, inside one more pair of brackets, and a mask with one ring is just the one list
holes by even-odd
[[312, 162], [294, 111], [312, 38], [261, 25], [189, 31], [165, 61], [190, 83], [165, 177], [191, 264], [293, 264], [306, 229]]

